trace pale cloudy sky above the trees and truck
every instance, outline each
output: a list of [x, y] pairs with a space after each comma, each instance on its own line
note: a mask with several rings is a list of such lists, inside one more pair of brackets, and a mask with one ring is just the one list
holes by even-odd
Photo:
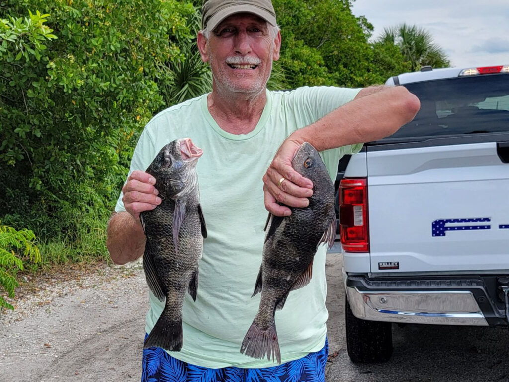
[[431, 33], [451, 66], [509, 65], [509, 0], [355, 0], [373, 37], [403, 22]]

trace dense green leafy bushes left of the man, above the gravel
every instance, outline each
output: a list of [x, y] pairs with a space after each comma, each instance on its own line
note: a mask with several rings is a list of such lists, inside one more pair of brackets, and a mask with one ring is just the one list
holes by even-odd
[[[166, 106], [160, 89], [175, 76], [161, 68], [182, 57], [175, 36], [191, 38], [194, 8], [176, 0], [10, 0], [7, 9], [0, 216], [43, 242], [81, 245], [80, 233], [97, 228], [86, 217], [105, 225], [139, 131]], [[100, 250], [106, 254], [104, 244]]]

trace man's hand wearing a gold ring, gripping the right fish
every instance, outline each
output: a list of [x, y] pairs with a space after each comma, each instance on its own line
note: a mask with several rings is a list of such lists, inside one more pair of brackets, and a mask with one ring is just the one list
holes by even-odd
[[286, 206], [307, 207], [307, 198], [313, 195], [313, 182], [292, 167], [292, 159], [300, 145], [292, 137], [283, 142], [263, 176], [265, 208], [273, 215], [289, 216], [292, 211]]

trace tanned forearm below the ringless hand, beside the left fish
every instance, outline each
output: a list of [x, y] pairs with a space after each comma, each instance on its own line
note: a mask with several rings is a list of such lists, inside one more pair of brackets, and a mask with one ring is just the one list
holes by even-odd
[[106, 246], [114, 263], [125, 264], [142, 256], [145, 241], [141, 224], [131, 214], [120, 212], [111, 216]]

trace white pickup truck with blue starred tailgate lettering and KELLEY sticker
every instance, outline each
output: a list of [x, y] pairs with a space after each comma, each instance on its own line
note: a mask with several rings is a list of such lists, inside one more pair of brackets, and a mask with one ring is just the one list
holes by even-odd
[[509, 66], [386, 84], [421, 108], [353, 155], [339, 188], [353, 362], [390, 358], [391, 322], [509, 324]]

